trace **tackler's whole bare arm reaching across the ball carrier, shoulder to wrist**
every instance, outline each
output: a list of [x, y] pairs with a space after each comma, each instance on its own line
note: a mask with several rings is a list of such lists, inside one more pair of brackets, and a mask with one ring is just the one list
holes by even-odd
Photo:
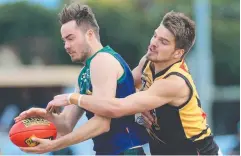
[[[178, 106], [182, 104], [189, 95], [189, 88], [185, 81], [177, 76], [170, 76], [168, 79], [156, 81], [148, 90], [132, 94], [126, 98], [97, 98], [87, 95], [79, 95], [80, 107], [105, 115], [118, 118], [125, 115], [145, 112], [166, 103]], [[71, 96], [74, 103], [76, 98]], [[101, 104], [105, 104], [104, 107]]]

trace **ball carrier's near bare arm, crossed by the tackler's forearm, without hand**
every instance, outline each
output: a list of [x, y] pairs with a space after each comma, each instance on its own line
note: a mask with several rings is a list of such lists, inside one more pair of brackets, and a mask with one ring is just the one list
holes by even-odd
[[[98, 54], [91, 63], [93, 97], [115, 97], [118, 75], [122, 70], [115, 58], [105, 53]], [[100, 107], [105, 107], [104, 105], [105, 103], [101, 103]], [[72, 133], [56, 140], [56, 146], [59, 149], [64, 148], [108, 132], [110, 122], [110, 118], [95, 115]]]

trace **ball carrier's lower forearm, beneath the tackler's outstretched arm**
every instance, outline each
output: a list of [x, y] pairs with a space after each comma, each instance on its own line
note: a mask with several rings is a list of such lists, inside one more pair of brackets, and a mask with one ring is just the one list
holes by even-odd
[[78, 129], [55, 140], [56, 150], [63, 149], [108, 132], [109, 126], [108, 122], [103, 122], [103, 118], [93, 117]]

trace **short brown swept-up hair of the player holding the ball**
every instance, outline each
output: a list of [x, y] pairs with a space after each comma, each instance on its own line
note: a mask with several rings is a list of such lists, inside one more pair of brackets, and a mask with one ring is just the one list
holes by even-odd
[[59, 13], [59, 22], [61, 25], [75, 20], [78, 26], [88, 30], [90, 27], [99, 36], [99, 25], [95, 19], [95, 15], [88, 5], [72, 3], [69, 6], [65, 5]]

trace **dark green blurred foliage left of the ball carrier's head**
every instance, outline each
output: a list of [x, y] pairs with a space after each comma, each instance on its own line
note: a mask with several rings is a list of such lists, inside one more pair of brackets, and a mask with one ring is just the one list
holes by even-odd
[[61, 40], [55, 11], [26, 2], [2, 5], [0, 34], [0, 44], [15, 47], [24, 64], [38, 57], [44, 64], [60, 63], [57, 53]]

